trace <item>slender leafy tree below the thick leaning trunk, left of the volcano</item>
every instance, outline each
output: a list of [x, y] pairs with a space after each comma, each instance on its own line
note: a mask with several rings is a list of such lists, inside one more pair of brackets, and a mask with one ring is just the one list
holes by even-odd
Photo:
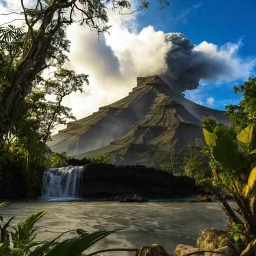
[[[51, 152], [46, 145], [51, 131], [58, 124], [66, 124], [68, 119], [76, 120], [62, 100], [72, 92], [83, 92], [84, 82], [88, 83], [87, 75], [63, 68], [58, 68], [48, 79], [38, 76], [4, 136], [1, 153], [6, 163], [0, 168], [5, 174], [5, 170], [10, 173], [14, 168], [19, 170], [30, 196], [41, 184], [41, 170], [45, 170]], [[56, 97], [55, 101], [46, 100], [49, 94]]]

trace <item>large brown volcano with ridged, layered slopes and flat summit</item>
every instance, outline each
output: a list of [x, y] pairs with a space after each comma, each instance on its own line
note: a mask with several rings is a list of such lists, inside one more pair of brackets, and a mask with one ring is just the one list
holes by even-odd
[[225, 111], [184, 98], [166, 77], [138, 77], [129, 96], [68, 123], [52, 136], [51, 150], [66, 151], [77, 159], [114, 153], [125, 159], [124, 164], [143, 163], [203, 138], [204, 116], [230, 124]]

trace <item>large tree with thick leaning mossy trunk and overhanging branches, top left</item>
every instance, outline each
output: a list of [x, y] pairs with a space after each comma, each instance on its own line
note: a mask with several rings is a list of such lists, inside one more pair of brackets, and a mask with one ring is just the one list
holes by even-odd
[[[159, 9], [170, 4], [167, 0], [158, 2]], [[110, 28], [102, 25], [109, 19], [106, 5], [100, 0], [37, 0], [35, 8], [26, 8], [21, 0], [21, 6], [27, 31], [0, 30], [1, 43], [5, 45], [0, 50], [0, 146], [37, 75], [51, 66], [60, 67], [68, 60], [65, 52], [69, 51], [70, 42], [65, 28], [76, 22], [96, 30], [98, 35]], [[120, 13], [130, 7], [127, 0], [112, 0], [113, 10], [119, 9]], [[149, 2], [142, 0], [139, 10], [148, 8]], [[10, 49], [10, 45], [14, 48]]]

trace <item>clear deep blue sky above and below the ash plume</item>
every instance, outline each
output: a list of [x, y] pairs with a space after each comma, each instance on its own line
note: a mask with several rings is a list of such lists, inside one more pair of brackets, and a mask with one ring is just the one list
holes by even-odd
[[[228, 42], [241, 46], [237, 55], [241, 59], [256, 57], [256, 1], [253, 0], [173, 0], [170, 7], [157, 11], [157, 1], [151, 1], [151, 11], [144, 11], [138, 16], [140, 28], [152, 25], [155, 30], [180, 32], [193, 44], [203, 41], [221, 46]], [[186, 97], [205, 106], [220, 110], [226, 104], [237, 104], [240, 96], [234, 96], [233, 86], [243, 80], [232, 82], [207, 83], [202, 81], [197, 90], [186, 92]]]

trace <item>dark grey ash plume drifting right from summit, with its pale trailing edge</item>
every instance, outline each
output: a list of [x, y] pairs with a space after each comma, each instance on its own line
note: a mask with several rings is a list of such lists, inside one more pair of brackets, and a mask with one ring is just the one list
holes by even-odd
[[171, 50], [166, 56], [168, 75], [178, 92], [197, 89], [201, 79], [211, 82], [247, 79], [253, 72], [255, 59], [244, 62], [236, 56], [241, 41], [227, 43], [219, 49], [205, 41], [193, 45], [181, 33], [167, 33], [165, 37], [171, 42]]

